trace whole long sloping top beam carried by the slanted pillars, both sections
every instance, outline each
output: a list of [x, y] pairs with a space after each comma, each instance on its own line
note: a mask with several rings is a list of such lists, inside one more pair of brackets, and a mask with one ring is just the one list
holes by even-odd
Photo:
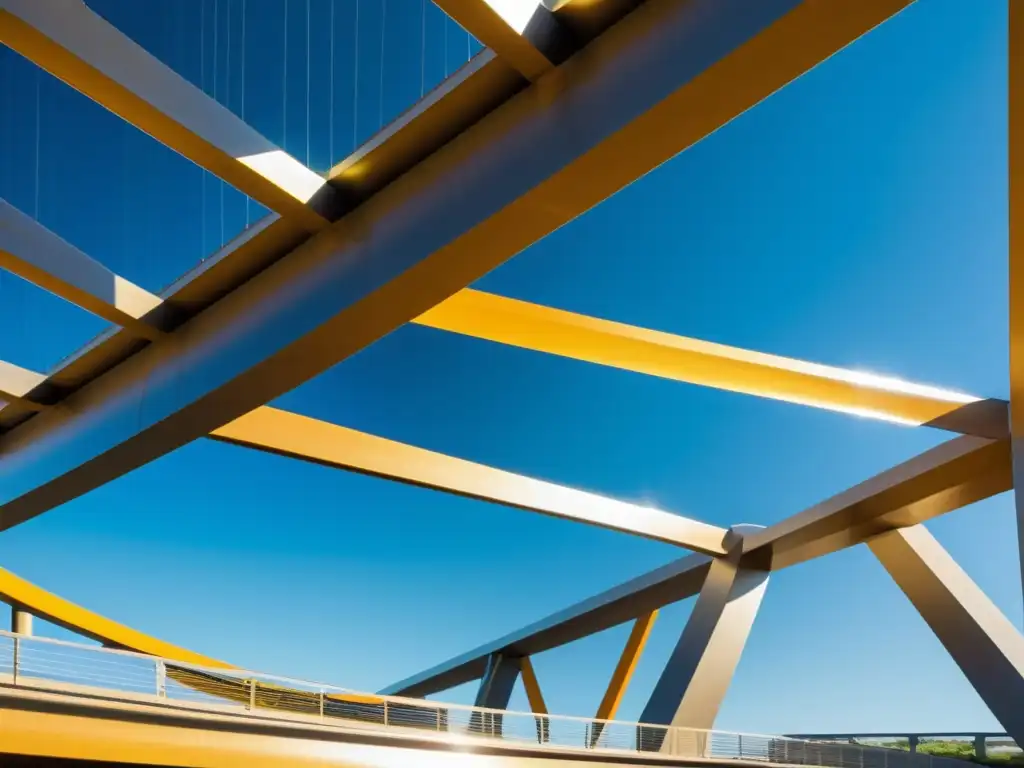
[[[957, 437], [741, 540], [744, 567], [784, 568], [914, 525], [1012, 486], [1009, 440]], [[727, 543], [728, 546], [728, 543]], [[494, 652], [539, 653], [696, 595], [712, 558], [690, 555], [385, 688], [428, 695], [480, 676]]]

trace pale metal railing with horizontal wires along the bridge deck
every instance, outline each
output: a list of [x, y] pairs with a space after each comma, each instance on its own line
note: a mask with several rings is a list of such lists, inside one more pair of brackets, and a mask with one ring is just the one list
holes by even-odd
[[964, 761], [857, 744], [615, 720], [534, 715], [379, 696], [247, 670], [218, 670], [130, 651], [0, 632], [0, 684], [102, 694], [204, 712], [288, 719], [345, 729], [423, 732], [509, 746], [659, 753], [828, 768], [963, 768]]

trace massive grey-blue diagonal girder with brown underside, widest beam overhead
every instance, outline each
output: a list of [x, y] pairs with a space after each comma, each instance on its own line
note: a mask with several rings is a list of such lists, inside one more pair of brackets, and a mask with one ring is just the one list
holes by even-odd
[[907, 0], [651, 0], [168, 338], [0, 438], [0, 527], [213, 431], [421, 314]]

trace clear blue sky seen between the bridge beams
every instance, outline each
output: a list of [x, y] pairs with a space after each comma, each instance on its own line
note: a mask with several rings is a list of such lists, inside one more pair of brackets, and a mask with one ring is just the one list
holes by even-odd
[[[90, 4], [317, 168], [478, 48], [421, 0], [337, 0], [333, 26], [310, 0], [308, 47], [306, 3], [248, 0], [244, 54], [243, 0]], [[478, 287], [1007, 397], [1006, 13], [919, 0]], [[0, 196], [151, 290], [246, 223], [238, 193], [6, 50], [0, 145]], [[0, 274], [0, 358], [45, 370], [102, 327]], [[946, 437], [414, 327], [276, 404], [721, 525], [771, 523]], [[1012, 499], [930, 528], [1020, 626]], [[678, 555], [206, 441], [0, 536], [0, 564], [90, 608], [357, 689]], [[621, 717], [689, 610], [662, 612]], [[535, 659], [553, 712], [593, 713], [628, 629]], [[772, 577], [718, 726], [998, 729], [864, 547]]]

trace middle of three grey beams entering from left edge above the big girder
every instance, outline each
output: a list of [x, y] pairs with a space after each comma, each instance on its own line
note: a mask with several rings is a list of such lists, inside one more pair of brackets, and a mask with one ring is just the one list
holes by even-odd
[[160, 331], [145, 319], [161, 300], [115, 274], [31, 216], [0, 200], [0, 268], [145, 339]]

